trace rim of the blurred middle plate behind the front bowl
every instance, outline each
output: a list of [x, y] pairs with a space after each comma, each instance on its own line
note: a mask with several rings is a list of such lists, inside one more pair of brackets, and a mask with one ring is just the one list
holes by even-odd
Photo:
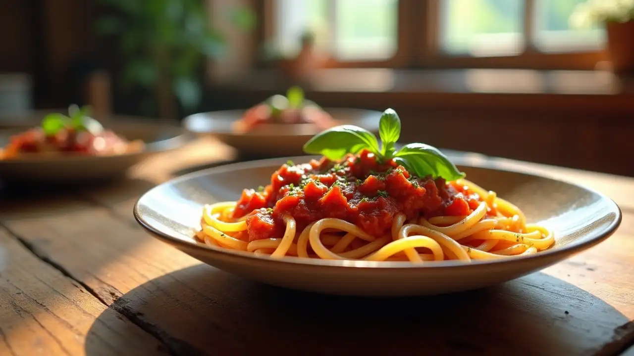
[[[376, 115], [377, 116], [377, 125], [376, 127], [371, 127], [371, 128], [366, 128], [370, 131], [378, 131], [378, 118], [381, 116], [382, 112], [378, 111], [378, 110], [371, 110], [371, 109], [361, 109], [361, 108], [344, 108], [344, 107], [325, 107], [322, 108], [324, 111], [326, 112], [331, 112], [332, 110], [335, 111], [352, 111], [352, 112], [357, 112], [361, 115]], [[183, 118], [183, 121], [181, 122], [181, 125], [183, 127], [183, 129], [187, 130], [188, 132], [191, 132], [193, 134], [214, 134], [214, 135], [222, 135], [222, 136], [257, 136], [259, 138], [262, 137], [279, 137], [279, 136], [299, 136], [299, 137], [313, 137], [314, 134], [316, 132], [319, 132], [319, 130], [317, 129], [316, 132], [312, 133], [312, 134], [302, 134], [301, 131], [302, 129], [304, 130], [309, 130], [312, 129], [314, 127], [316, 127], [314, 124], [262, 124], [262, 127], [266, 127], [268, 129], [268, 131], [271, 132], [275, 132], [275, 135], [273, 134], [269, 134], [268, 132], [264, 132], [264, 133], [259, 133], [259, 132], [245, 132], [243, 134], [236, 134], [234, 132], [231, 132], [231, 130], [195, 130], [193, 128], [191, 128], [191, 122], [193, 122], [194, 120], [198, 120], [198, 118], [203, 117], [204, 120], [210, 120], [210, 121], [214, 121], [217, 119], [213, 118], [213, 115], [228, 115], [228, 114], [233, 114], [236, 113], [238, 115], [240, 115], [240, 117], [242, 117], [242, 114], [249, 110], [249, 108], [246, 109], [232, 109], [232, 110], [217, 110], [217, 111], [203, 111], [200, 113], [193, 113], [191, 115], [186, 116], [185, 118]], [[335, 118], [335, 120], [337, 120], [337, 118]], [[290, 130], [288, 129], [290, 128]]]

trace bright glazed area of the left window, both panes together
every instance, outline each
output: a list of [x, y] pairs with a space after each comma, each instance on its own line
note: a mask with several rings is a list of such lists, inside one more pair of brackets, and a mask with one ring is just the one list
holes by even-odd
[[397, 46], [398, 0], [276, 0], [275, 44], [299, 51], [306, 30], [338, 60], [384, 60]]

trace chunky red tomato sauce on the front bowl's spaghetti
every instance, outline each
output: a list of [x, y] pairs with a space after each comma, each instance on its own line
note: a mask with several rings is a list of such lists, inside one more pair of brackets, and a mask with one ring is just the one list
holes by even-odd
[[282, 165], [271, 184], [243, 191], [233, 217], [247, 215], [249, 241], [281, 238], [284, 215], [294, 217], [298, 231], [317, 220], [336, 218], [379, 237], [389, 233], [396, 213], [408, 219], [462, 216], [480, 202], [477, 194], [455, 182], [417, 177], [392, 160], [378, 162], [364, 150], [339, 162], [322, 158]]

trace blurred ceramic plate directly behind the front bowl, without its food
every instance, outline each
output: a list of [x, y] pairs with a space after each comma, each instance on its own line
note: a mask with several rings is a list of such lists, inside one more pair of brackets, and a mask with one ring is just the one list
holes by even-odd
[[[379, 111], [324, 108], [340, 125], [356, 125], [370, 132], [378, 132]], [[246, 110], [197, 113], [183, 120], [183, 127], [199, 135], [212, 134], [236, 148], [243, 155], [279, 157], [302, 155], [302, 146], [320, 132], [313, 124], [263, 124], [246, 134], [235, 134], [231, 124], [242, 118]]]

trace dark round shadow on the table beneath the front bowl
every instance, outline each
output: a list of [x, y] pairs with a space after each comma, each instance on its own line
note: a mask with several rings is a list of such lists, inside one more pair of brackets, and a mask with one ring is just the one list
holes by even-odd
[[[610, 343], [614, 327], [628, 322], [596, 296], [543, 273], [451, 295], [354, 298], [266, 286], [195, 265], [153, 279], [111, 307], [176, 355], [572, 355], [606, 344], [609, 354], [624, 347]], [[100, 319], [87, 334], [88, 355], [100, 353], [91, 347], [107, 332]]]

